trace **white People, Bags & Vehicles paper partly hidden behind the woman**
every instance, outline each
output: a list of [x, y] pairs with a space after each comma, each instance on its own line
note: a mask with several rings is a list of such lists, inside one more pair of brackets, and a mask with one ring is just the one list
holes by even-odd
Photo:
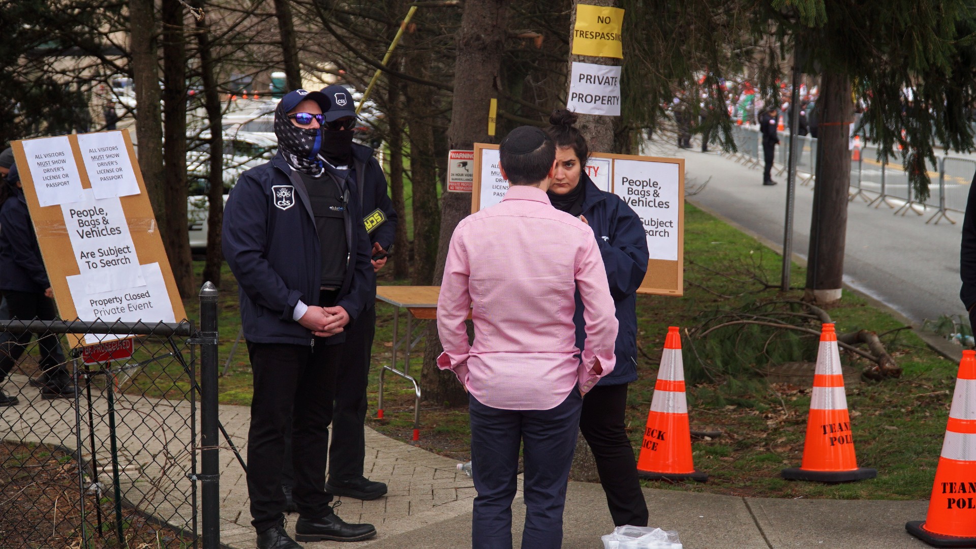
[[614, 160], [613, 189], [640, 216], [651, 259], [677, 261], [678, 164]]

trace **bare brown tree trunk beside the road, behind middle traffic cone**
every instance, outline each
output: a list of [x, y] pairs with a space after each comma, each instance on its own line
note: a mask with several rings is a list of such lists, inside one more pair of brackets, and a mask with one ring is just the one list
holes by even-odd
[[830, 305], [840, 299], [847, 234], [847, 192], [850, 186], [850, 150], [847, 148], [851, 116], [850, 78], [825, 72], [817, 109], [820, 167], [813, 190], [810, 250], [805, 299]]

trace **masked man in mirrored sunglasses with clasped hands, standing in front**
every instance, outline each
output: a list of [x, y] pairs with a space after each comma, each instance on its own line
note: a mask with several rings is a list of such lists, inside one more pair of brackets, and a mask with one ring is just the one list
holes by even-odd
[[294, 434], [299, 541], [358, 541], [372, 525], [349, 525], [325, 490], [335, 380], [344, 331], [371, 287], [369, 237], [358, 197], [319, 155], [320, 92], [296, 90], [278, 104], [278, 153], [244, 172], [224, 210], [224, 257], [240, 285], [241, 321], [254, 372], [248, 493], [259, 549], [298, 549], [283, 528], [285, 436]]

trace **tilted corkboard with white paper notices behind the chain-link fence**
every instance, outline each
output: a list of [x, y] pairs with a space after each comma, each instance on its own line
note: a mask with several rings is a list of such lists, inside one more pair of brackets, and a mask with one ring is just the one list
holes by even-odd
[[[183, 302], [129, 132], [11, 145], [61, 317], [146, 324], [183, 320]], [[69, 336], [72, 346], [123, 337]]]

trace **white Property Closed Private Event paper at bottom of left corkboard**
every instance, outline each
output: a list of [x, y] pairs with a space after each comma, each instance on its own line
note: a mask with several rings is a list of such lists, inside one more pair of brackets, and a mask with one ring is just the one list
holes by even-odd
[[[67, 287], [78, 319], [94, 322], [176, 322], [173, 304], [166, 291], [166, 282], [158, 263], [142, 266], [145, 285], [134, 288], [120, 288], [101, 293], [85, 291], [85, 280], [80, 274], [67, 277]], [[86, 344], [123, 339], [126, 335], [85, 334]]]

